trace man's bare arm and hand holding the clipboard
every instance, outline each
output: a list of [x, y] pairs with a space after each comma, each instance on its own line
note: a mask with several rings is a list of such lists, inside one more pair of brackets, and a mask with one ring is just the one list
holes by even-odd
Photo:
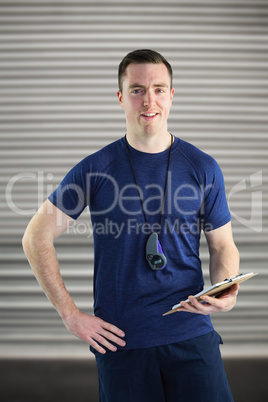
[[[231, 223], [205, 232], [209, 249], [210, 262], [209, 272], [212, 284], [223, 281], [239, 273], [239, 253], [233, 241]], [[238, 294], [239, 285], [231, 286], [219, 298], [202, 296], [201, 299], [206, 302], [202, 304], [193, 296], [189, 296], [191, 304], [181, 302], [183, 308], [179, 311], [188, 311], [197, 314], [211, 314], [231, 310]]]

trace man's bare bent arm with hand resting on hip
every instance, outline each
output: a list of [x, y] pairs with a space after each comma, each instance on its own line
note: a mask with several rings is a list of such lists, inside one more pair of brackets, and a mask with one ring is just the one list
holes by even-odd
[[37, 281], [66, 328], [100, 353], [105, 353], [102, 346], [115, 351], [116, 347], [109, 341], [124, 346], [125, 342], [120, 338], [125, 336], [123, 331], [98, 317], [81, 312], [61, 277], [54, 240], [63, 234], [72, 222], [72, 218], [50, 201], [45, 201], [25, 231], [23, 249]]

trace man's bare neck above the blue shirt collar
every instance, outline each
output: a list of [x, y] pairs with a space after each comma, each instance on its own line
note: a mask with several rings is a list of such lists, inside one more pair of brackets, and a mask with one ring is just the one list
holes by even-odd
[[136, 136], [127, 133], [127, 141], [132, 148], [146, 153], [163, 152], [170, 147], [171, 134], [167, 131], [163, 135]]

